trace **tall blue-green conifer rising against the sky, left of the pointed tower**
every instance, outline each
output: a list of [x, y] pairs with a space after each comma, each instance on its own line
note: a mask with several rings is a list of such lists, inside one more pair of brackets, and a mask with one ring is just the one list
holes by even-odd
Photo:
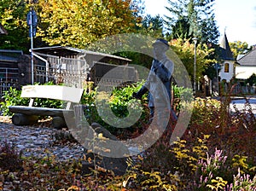
[[168, 0], [166, 26], [170, 38], [199, 38], [201, 43], [217, 43], [218, 27], [212, 5], [214, 0]]

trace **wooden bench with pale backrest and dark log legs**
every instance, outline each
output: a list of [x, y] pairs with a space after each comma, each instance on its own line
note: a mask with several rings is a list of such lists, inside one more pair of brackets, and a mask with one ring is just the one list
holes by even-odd
[[[26, 85], [22, 87], [21, 96], [30, 98], [28, 106], [10, 106], [9, 111], [15, 113], [12, 122], [15, 125], [27, 125], [38, 121], [38, 116], [52, 116], [52, 126], [59, 129], [66, 126], [64, 116], [73, 115], [72, 103], [79, 103], [84, 90], [61, 85]], [[35, 98], [66, 101], [66, 108], [35, 107]]]

